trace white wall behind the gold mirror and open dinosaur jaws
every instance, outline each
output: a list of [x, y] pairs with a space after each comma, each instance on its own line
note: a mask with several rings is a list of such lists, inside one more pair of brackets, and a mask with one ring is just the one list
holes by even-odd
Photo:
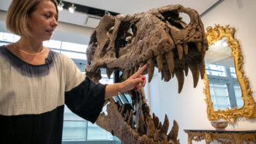
[[[255, 0], [224, 0], [216, 7], [210, 9], [202, 16], [205, 28], [220, 24], [230, 25], [236, 29], [235, 38], [238, 39], [244, 56], [244, 71], [249, 79], [253, 97], [256, 99], [256, 1]], [[182, 144], [188, 143], [188, 135], [184, 129], [213, 129], [206, 114], [206, 98], [203, 94], [203, 81], [199, 80], [196, 88], [193, 88], [192, 74], [185, 77], [185, 85], [182, 93], [178, 94], [178, 81], [176, 78], [168, 83], [161, 81], [161, 74], [155, 74], [147, 91], [150, 95], [148, 104], [150, 110], [164, 120], [164, 114], [168, 115], [170, 127], [175, 119], [179, 125], [178, 139]], [[159, 98], [159, 99], [158, 99]], [[256, 119], [238, 118], [233, 125], [228, 125], [228, 130], [255, 130]], [[205, 142], [193, 142], [205, 143]]]

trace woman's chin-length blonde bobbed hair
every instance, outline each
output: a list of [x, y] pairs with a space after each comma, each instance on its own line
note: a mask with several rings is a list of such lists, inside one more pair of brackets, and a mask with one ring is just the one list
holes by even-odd
[[[19, 36], [31, 36], [28, 28], [29, 15], [42, 0], [12, 0], [6, 16], [6, 29]], [[54, 2], [58, 18], [57, 1]]]

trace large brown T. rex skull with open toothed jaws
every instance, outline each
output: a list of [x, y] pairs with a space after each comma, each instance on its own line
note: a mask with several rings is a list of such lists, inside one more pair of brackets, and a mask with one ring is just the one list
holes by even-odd
[[[189, 15], [189, 24], [182, 21], [180, 12]], [[198, 12], [182, 5], [167, 5], [134, 15], [105, 15], [89, 42], [86, 75], [99, 81], [100, 68], [106, 68], [109, 77], [114, 70], [119, 70], [123, 72], [120, 78], [125, 80], [141, 65], [149, 63], [145, 73], [148, 73], [149, 82], [153, 77], [154, 67], [157, 67], [164, 81], [177, 77], [180, 93], [184, 74], [187, 76], [189, 69], [192, 71], [194, 87], [199, 81], [199, 74], [203, 77], [207, 49], [204, 27]], [[108, 116], [100, 115], [97, 124], [125, 143], [178, 143], [178, 125], [175, 124], [175, 130], [166, 135], [168, 118], [161, 125], [157, 117], [150, 116], [141, 92], [133, 91], [130, 95], [133, 100], [141, 100], [133, 103], [132, 110], [125, 111], [122, 106], [111, 101]]]

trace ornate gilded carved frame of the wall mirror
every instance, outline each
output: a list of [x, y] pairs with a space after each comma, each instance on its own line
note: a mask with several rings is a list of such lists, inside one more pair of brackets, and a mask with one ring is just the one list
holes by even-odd
[[[207, 27], [206, 38], [208, 40], [208, 45], [211, 46], [216, 41], [222, 39], [223, 37], [227, 38], [227, 44], [230, 46], [231, 55], [234, 57], [234, 66], [237, 74], [237, 80], [240, 84], [241, 88], [241, 97], [244, 100], [244, 106], [242, 108], [232, 108], [225, 110], [215, 111], [213, 109], [213, 102], [211, 101], [209, 94], [209, 81], [208, 77], [205, 73], [204, 75], [204, 84], [205, 87], [203, 89], [206, 94], [206, 104], [207, 104], [207, 115], [210, 121], [216, 121], [219, 118], [225, 119], [227, 122], [234, 122], [238, 117], [244, 118], [254, 118], [255, 115], [255, 102], [251, 95], [251, 88], [249, 86], [249, 82], [247, 77], [244, 75], [243, 68], [243, 56], [240, 50], [239, 43], [237, 39], [234, 39], [234, 28], [230, 28], [226, 26], [225, 28], [220, 25], [216, 25], [214, 28], [211, 26]], [[207, 53], [207, 52], [206, 52]]]

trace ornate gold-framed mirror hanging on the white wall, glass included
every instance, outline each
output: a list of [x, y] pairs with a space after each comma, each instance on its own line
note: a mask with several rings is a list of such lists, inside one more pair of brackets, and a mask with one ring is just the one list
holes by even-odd
[[255, 103], [244, 75], [243, 57], [234, 28], [209, 26], [206, 38], [206, 94], [207, 115], [210, 121], [223, 118], [234, 122], [237, 117], [254, 118]]

